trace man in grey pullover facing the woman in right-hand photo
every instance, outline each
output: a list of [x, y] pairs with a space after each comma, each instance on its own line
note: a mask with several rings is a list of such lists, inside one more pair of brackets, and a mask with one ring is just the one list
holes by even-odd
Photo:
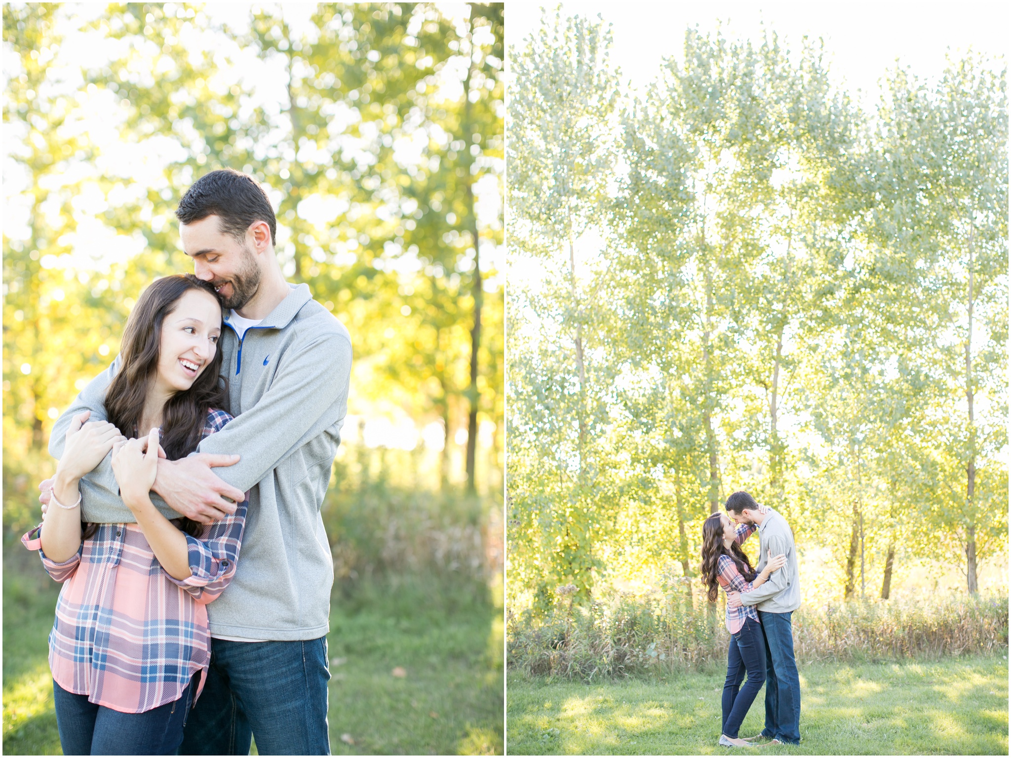
[[787, 565], [751, 592], [730, 592], [727, 604], [756, 605], [765, 633], [765, 728], [759, 737], [773, 744], [801, 741], [801, 681], [794, 660], [793, 612], [801, 605], [801, 576], [794, 547], [794, 533], [787, 519], [769, 507], [759, 506], [747, 492], [734, 492], [725, 504], [727, 515], [738, 525], [758, 527], [758, 566], [765, 568], [770, 555], [786, 555]]

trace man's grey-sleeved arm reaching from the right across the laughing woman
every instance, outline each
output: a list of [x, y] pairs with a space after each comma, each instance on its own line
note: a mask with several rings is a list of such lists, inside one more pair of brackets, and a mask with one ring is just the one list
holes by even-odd
[[[240, 461], [218, 473], [236, 490], [251, 489], [294, 449], [343, 417], [351, 360], [351, 343], [336, 333], [286, 353], [270, 388], [257, 404], [205, 438], [198, 448], [200, 455], [192, 458], [239, 453]], [[160, 460], [158, 464], [155, 491], [177, 510], [177, 502], [190, 498], [202, 501], [200, 492], [191, 491], [184, 473], [189, 461]]]

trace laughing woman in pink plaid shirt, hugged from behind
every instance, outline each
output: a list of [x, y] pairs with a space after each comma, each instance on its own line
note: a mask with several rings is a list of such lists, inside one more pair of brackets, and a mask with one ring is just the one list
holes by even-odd
[[[210, 526], [170, 522], [150, 490], [160, 454], [182, 458], [232, 419], [219, 409], [220, 331], [206, 282], [169, 276], [145, 290], [106, 392], [109, 420], [75, 417], [45, 520], [22, 538], [64, 583], [50, 668], [66, 755], [174, 754], [200, 693], [210, 660], [205, 605], [235, 575], [246, 502]], [[80, 479], [109, 451], [136, 523], [82, 524]]]

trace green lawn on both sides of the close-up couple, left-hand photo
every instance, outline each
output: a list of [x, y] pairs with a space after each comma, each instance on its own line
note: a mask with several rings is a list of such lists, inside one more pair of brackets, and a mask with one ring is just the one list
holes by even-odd
[[[7, 755], [61, 754], [47, 663], [58, 590], [36, 557], [16, 543], [5, 544]], [[501, 753], [501, 608], [492, 594], [476, 583], [428, 579], [335, 594], [329, 638], [332, 752]]]

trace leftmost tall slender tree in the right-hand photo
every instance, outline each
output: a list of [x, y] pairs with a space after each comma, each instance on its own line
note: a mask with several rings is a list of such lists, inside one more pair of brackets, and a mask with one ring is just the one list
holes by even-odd
[[[615, 161], [618, 79], [609, 63], [610, 43], [610, 30], [603, 22], [579, 16], [563, 20], [560, 8], [553, 22], [544, 15], [540, 31], [513, 56], [515, 84], [507, 149], [512, 167], [509, 197], [514, 250], [544, 263], [551, 290], [550, 297], [524, 302], [524, 307], [548, 320], [536, 342], [520, 348], [524, 357], [511, 365], [511, 376], [521, 388], [518, 396], [544, 405], [536, 410], [524, 408], [523, 416], [514, 417], [510, 444], [517, 451], [534, 454], [536, 450], [542, 462], [551, 462], [553, 473], [560, 477], [557, 486], [561, 490], [554, 489], [562, 502], [549, 527], [544, 511], [536, 507], [541, 498], [528, 487], [537, 479], [523, 479], [527, 469], [515, 455], [511, 455], [511, 466], [516, 460], [521, 473], [510, 501], [518, 510], [529, 508], [529, 517], [514, 519], [525, 528], [533, 528], [531, 518], [541, 513], [541, 527], [548, 528], [547, 534], [559, 546], [549, 553], [554, 565], [563, 567], [554, 574], [573, 582], [578, 588], [576, 597], [583, 600], [592, 585], [599, 471], [594, 443], [606, 417], [600, 395], [607, 386], [607, 374], [594, 376], [588, 361], [584, 329], [593, 318], [593, 307], [577, 270], [576, 243], [600, 212]], [[571, 346], [571, 353], [559, 351], [559, 339]], [[557, 398], [545, 393], [549, 386], [556, 388]], [[549, 407], [560, 414], [557, 419], [543, 412]], [[543, 428], [545, 423], [548, 429]], [[548, 437], [541, 438], [543, 433]], [[535, 442], [526, 435], [541, 439]], [[518, 438], [516, 446], [514, 437]], [[556, 447], [547, 448], [547, 439]], [[521, 497], [521, 492], [533, 499], [524, 499], [527, 495]], [[542, 599], [546, 597], [544, 588], [538, 591]]]

